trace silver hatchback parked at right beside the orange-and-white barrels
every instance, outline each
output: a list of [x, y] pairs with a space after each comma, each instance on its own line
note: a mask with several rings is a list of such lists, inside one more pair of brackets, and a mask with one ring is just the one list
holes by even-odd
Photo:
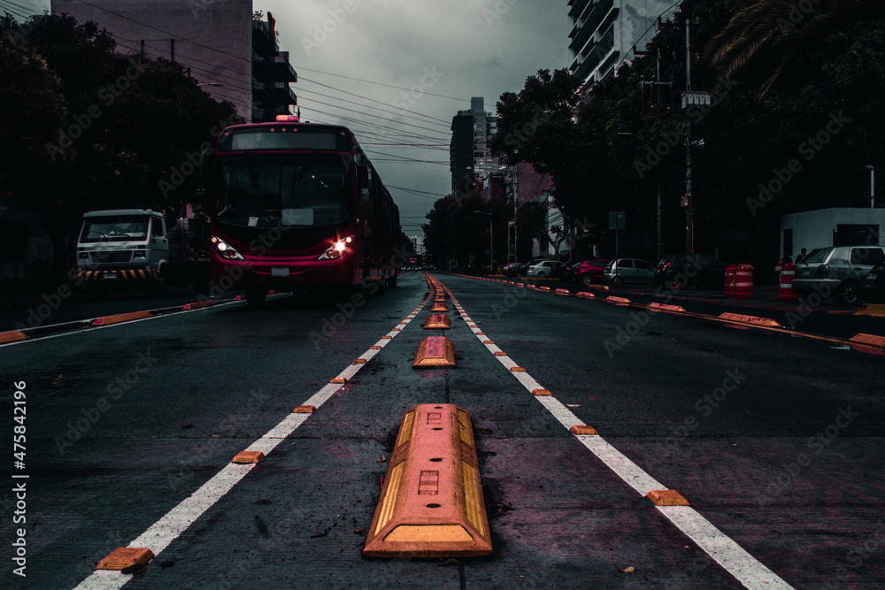
[[885, 263], [881, 246], [831, 246], [813, 249], [796, 267], [793, 290], [799, 295], [835, 295], [843, 305], [858, 303], [860, 287], [874, 266]]

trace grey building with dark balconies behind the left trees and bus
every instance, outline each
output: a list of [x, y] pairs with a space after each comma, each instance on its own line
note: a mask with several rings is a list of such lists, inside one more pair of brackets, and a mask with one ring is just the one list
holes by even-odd
[[280, 51], [273, 16], [253, 18], [251, 0], [52, 0], [53, 14], [107, 29], [120, 53], [181, 64], [217, 100], [252, 122], [289, 114], [297, 81]]

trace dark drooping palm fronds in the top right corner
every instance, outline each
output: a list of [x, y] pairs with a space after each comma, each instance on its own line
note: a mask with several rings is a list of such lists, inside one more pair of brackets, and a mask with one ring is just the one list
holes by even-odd
[[774, 73], [759, 91], [762, 97], [812, 43], [846, 24], [883, 14], [885, 3], [881, 0], [759, 0], [738, 11], [704, 53], [720, 74], [728, 75], [749, 64], [778, 35], [789, 35]]

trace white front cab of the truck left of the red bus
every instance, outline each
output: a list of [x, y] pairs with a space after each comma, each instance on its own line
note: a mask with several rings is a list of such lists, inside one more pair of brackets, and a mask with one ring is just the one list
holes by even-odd
[[169, 279], [169, 266], [169, 239], [162, 213], [116, 209], [83, 215], [77, 268], [97, 299], [127, 287], [161, 295]]

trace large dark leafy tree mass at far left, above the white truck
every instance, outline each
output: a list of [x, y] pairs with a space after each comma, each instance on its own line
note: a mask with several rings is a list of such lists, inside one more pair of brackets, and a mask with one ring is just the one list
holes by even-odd
[[181, 65], [115, 48], [66, 15], [0, 19], [0, 191], [40, 212], [56, 253], [84, 211], [178, 211], [202, 149], [242, 122]]

